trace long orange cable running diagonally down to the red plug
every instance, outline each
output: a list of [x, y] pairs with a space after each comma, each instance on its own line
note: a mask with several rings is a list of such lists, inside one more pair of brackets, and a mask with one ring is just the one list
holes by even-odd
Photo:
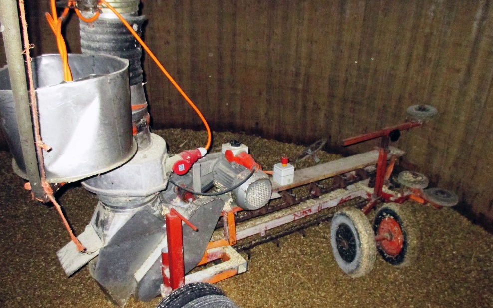
[[156, 65], [161, 69], [161, 71], [164, 73], [164, 75], [170, 80], [170, 82], [175, 86], [175, 88], [180, 92], [180, 94], [185, 98], [185, 100], [190, 104], [190, 106], [195, 110], [195, 112], [199, 115], [200, 119], [204, 123], [204, 126], [206, 127], [207, 130], [207, 144], [204, 148], [209, 150], [209, 147], [211, 146], [211, 141], [212, 141], [212, 134], [211, 134], [211, 128], [209, 127], [209, 124], [207, 123], [206, 119], [200, 112], [200, 110], [195, 106], [195, 104], [192, 102], [192, 100], [187, 96], [187, 94], [180, 88], [180, 86], [176, 83], [176, 81], [171, 77], [171, 75], [168, 73], [168, 71], [164, 68], [164, 66], [159, 62], [159, 60], [156, 58], [154, 53], [147, 47], [147, 45], [144, 43], [144, 41], [140, 38], [139, 34], [135, 32], [135, 30], [132, 28], [132, 26], [123, 18], [120, 13], [116, 11], [113, 6], [111, 6], [108, 2], [105, 0], [101, 0], [101, 3], [104, 4], [106, 7], [108, 7], [120, 20], [123, 22], [123, 24], [127, 27], [127, 29], [132, 33], [132, 35], [135, 37], [135, 39], [142, 45], [142, 48], [147, 52], [147, 54], [151, 57], [151, 59], [156, 63]]

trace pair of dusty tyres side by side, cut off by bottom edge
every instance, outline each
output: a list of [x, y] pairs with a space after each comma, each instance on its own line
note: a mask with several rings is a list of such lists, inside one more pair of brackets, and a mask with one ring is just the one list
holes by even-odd
[[238, 308], [218, 287], [203, 283], [191, 283], [180, 287], [156, 308]]

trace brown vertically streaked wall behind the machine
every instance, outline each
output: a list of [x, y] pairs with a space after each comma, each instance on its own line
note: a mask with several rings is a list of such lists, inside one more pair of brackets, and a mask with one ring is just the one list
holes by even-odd
[[[55, 52], [44, 12], [27, 1], [35, 54]], [[439, 115], [404, 132], [404, 163], [456, 191], [493, 223], [493, 3], [488, 0], [143, 0], [144, 40], [213, 130], [309, 144], [399, 124], [405, 109]], [[78, 24], [67, 27], [80, 52]], [[0, 64], [4, 51], [0, 50]], [[154, 128], [202, 129], [145, 57]]]

